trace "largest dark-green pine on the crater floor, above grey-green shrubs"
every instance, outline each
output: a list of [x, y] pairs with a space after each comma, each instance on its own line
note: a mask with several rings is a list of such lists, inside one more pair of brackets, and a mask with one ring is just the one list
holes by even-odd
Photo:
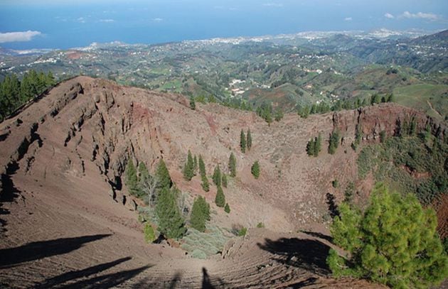
[[166, 238], [178, 239], [186, 232], [184, 220], [176, 202], [178, 193], [176, 187], [171, 190], [169, 187], [163, 187], [159, 192], [156, 215], [159, 219], [159, 231]]

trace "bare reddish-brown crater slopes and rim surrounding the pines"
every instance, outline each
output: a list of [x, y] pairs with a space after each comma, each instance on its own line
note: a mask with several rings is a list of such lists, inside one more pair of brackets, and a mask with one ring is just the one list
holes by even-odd
[[[363, 280], [329, 277], [328, 194], [336, 202], [356, 180], [358, 152], [350, 147], [358, 124], [366, 143], [380, 131], [395, 133], [399, 120], [414, 117], [419, 129], [447, 135], [443, 125], [397, 104], [311, 115], [287, 114], [268, 125], [255, 112], [219, 104], [189, 107], [181, 94], [162, 94], [90, 77], [75, 77], [28, 104], [0, 124], [0, 285], [11, 288], [378, 288]], [[239, 148], [240, 130], [252, 132], [248, 153]], [[328, 143], [334, 129], [343, 141], [330, 155], [306, 155], [318, 133]], [[203, 156], [208, 175], [215, 165], [227, 172], [231, 152], [238, 174], [225, 197], [232, 211], [215, 206], [216, 188], [203, 192], [196, 176], [182, 168], [188, 150]], [[150, 172], [163, 158], [186, 203], [203, 195], [221, 228], [247, 227], [220, 254], [200, 260], [169, 244], [145, 244], [137, 207], [124, 169], [144, 162]], [[255, 180], [250, 168], [260, 161]], [[372, 178], [356, 184], [366, 200]], [[255, 228], [262, 222], [265, 228]], [[309, 234], [297, 233], [298, 230]]]

